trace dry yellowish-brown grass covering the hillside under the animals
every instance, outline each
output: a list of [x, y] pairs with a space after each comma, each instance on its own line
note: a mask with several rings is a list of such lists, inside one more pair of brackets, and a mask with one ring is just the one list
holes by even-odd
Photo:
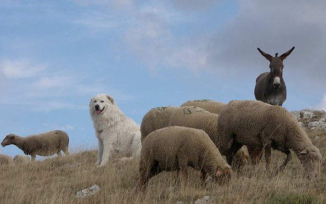
[[[307, 131], [322, 155], [325, 155], [326, 131]], [[316, 136], [319, 138], [315, 139]], [[27, 166], [0, 166], [0, 203], [194, 203], [205, 195], [208, 203], [326, 203], [325, 157], [321, 175], [315, 180], [302, 177], [303, 169], [296, 156], [275, 177], [265, 175], [264, 160], [257, 166], [246, 166], [226, 186], [210, 183], [201, 188], [198, 173], [189, 170], [189, 182], [182, 187], [175, 173], [161, 173], [149, 181], [148, 189], [136, 193], [137, 164], [113, 161], [104, 168], [94, 167], [96, 151], [50, 158]], [[285, 155], [274, 151], [272, 169]], [[77, 191], [97, 184], [101, 191], [84, 199]]]

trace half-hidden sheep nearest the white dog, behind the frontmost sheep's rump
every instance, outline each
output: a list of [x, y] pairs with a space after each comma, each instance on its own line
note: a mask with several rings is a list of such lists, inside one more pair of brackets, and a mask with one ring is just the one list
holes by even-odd
[[140, 126], [141, 132], [141, 141], [145, 139], [145, 137], [154, 130], [158, 130], [161, 128], [165, 128], [169, 126], [169, 120], [172, 112], [179, 107], [158, 107], [153, 108], [148, 111], [142, 120], [142, 124]]

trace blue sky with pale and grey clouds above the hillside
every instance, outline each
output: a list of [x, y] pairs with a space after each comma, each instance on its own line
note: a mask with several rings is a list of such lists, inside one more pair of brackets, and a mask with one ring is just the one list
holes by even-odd
[[71, 152], [96, 149], [98, 93], [139, 125], [154, 107], [254, 100], [269, 71], [258, 47], [295, 46], [283, 62], [287, 110], [326, 110], [325, 10], [321, 0], [0, 0], [0, 136], [61, 129]]

